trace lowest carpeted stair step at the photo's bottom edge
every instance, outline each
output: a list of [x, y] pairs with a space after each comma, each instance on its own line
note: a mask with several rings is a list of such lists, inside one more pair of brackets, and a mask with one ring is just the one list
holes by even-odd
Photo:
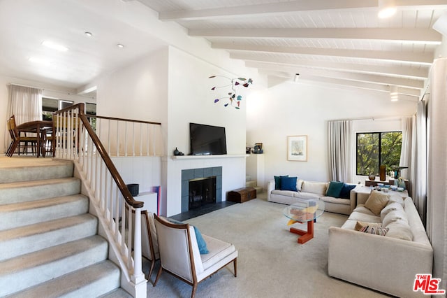
[[119, 292], [117, 297], [131, 297], [124, 290], [116, 290], [119, 278], [119, 268], [104, 261], [15, 293], [13, 297], [99, 297], [111, 291]]

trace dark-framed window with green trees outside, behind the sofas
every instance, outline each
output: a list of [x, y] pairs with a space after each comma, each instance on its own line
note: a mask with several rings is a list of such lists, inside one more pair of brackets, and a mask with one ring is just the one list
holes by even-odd
[[367, 132], [357, 134], [357, 175], [379, 175], [379, 166], [399, 166], [402, 132]]

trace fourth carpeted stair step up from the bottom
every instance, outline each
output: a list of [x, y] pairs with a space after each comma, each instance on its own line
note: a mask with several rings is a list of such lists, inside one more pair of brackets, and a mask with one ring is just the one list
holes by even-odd
[[82, 194], [0, 205], [0, 231], [87, 212], [89, 198]]

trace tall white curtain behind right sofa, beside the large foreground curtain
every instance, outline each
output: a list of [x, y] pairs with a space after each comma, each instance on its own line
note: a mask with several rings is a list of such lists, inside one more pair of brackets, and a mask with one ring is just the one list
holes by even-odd
[[[430, 95], [426, 95], [429, 97]], [[412, 164], [413, 176], [411, 177], [412, 197], [418, 209], [420, 219], [426, 225], [427, 221], [427, 104], [425, 100], [418, 101], [416, 111], [416, 136], [415, 150], [413, 150], [414, 162]]]

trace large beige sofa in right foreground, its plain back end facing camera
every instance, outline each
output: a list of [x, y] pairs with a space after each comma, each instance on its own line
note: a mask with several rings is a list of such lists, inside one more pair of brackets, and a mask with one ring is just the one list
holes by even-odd
[[[329, 275], [397, 297], [424, 297], [413, 292], [413, 285], [416, 274], [432, 274], [433, 250], [413, 200], [392, 192], [377, 215], [365, 207], [368, 198], [359, 193], [358, 206], [344, 225], [330, 227]], [[374, 222], [388, 232], [381, 236], [355, 229]]]

